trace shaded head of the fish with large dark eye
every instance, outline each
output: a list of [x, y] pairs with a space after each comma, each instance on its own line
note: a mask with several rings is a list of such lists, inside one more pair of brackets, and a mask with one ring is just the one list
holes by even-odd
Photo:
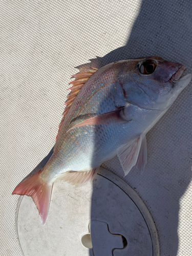
[[169, 108], [191, 80], [191, 74], [182, 76], [185, 66], [158, 56], [124, 60], [119, 64], [118, 81], [124, 99], [141, 108]]

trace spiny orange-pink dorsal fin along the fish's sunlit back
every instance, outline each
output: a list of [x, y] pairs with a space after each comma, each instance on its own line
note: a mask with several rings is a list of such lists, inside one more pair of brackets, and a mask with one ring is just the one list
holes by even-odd
[[[92, 68], [92, 69], [85, 69], [83, 73], [77, 73], [75, 75], [72, 75], [72, 77], [75, 77], [75, 80], [70, 82], [69, 84], [72, 85], [72, 87], [70, 87], [67, 90], [71, 90], [70, 94], [67, 96], [67, 101], [65, 102], [66, 108], [64, 110], [64, 112], [62, 113], [62, 120], [59, 124], [59, 129], [58, 129], [58, 133], [57, 133], [57, 137], [60, 131], [60, 127], [63, 123], [63, 121], [65, 120], [65, 117], [75, 99], [75, 97], [77, 96], [77, 94], [79, 93], [79, 91], [81, 90], [82, 86], [84, 83], [87, 82], [87, 80], [97, 71], [98, 69]], [[56, 137], [56, 140], [57, 140]]]

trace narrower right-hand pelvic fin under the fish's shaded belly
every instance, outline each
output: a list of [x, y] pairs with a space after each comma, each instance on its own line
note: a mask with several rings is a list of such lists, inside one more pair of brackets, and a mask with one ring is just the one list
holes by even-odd
[[146, 137], [144, 136], [141, 142], [141, 148], [139, 152], [139, 156], [137, 158], [136, 167], [141, 171], [141, 174], [144, 171], [145, 165], [147, 162], [147, 147], [146, 147]]

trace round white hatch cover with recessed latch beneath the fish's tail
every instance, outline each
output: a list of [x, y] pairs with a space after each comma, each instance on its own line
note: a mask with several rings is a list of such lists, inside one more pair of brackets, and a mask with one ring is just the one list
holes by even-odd
[[43, 227], [32, 199], [21, 196], [16, 231], [25, 256], [159, 256], [150, 212], [129, 185], [103, 168], [81, 187], [56, 181]]

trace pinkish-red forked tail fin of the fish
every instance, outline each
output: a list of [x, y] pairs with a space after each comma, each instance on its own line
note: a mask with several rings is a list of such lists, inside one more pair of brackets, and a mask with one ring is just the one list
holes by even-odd
[[12, 195], [17, 194], [31, 196], [39, 211], [42, 225], [45, 225], [48, 217], [53, 185], [48, 185], [39, 177], [41, 172], [42, 171], [39, 170], [39, 172], [31, 176], [29, 179], [16, 186]]

